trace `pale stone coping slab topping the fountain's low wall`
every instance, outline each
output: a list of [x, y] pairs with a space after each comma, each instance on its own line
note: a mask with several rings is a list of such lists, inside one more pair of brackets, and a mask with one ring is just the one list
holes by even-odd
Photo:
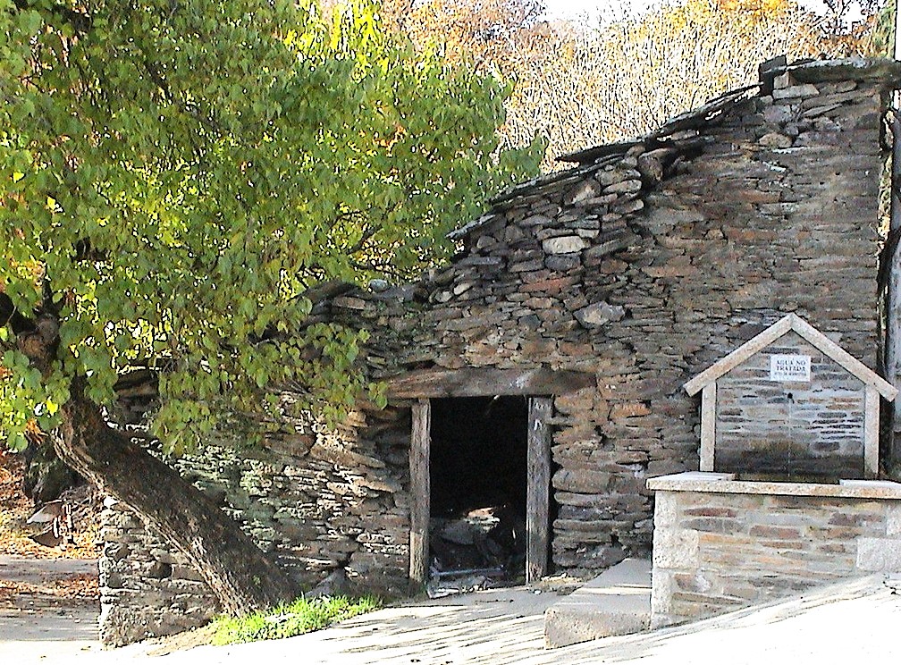
[[862, 499], [899, 499], [901, 483], [890, 480], [840, 480], [836, 484], [736, 480], [734, 473], [686, 471], [649, 478], [648, 489], [714, 494], [769, 494], [779, 496], [839, 496]]

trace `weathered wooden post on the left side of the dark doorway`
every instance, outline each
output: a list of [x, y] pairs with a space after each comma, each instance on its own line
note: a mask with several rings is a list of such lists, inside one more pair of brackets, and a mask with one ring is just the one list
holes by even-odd
[[429, 400], [417, 400], [410, 435], [410, 584], [414, 588], [421, 588], [429, 578], [431, 422]]

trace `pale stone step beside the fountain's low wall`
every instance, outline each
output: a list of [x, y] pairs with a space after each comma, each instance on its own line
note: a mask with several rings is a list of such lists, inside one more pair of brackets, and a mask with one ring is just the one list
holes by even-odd
[[651, 561], [626, 559], [544, 613], [545, 646], [641, 633], [651, 625]]

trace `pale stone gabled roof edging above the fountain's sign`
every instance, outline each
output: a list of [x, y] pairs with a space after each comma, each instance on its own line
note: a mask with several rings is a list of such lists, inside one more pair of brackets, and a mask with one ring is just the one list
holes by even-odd
[[696, 395], [705, 386], [714, 383], [717, 378], [722, 377], [731, 369], [738, 367], [742, 362], [751, 358], [758, 351], [762, 351], [783, 335], [791, 332], [797, 333], [807, 342], [813, 344], [867, 386], [876, 388], [879, 395], [885, 397], [889, 402], [895, 399], [898, 393], [896, 387], [892, 386], [872, 369], [869, 369], [860, 360], [851, 356], [848, 351], [842, 349], [841, 346], [830, 340], [823, 333], [820, 333], [814, 326], [807, 323], [797, 314], [786, 314], [765, 331], [752, 337], [748, 342], [744, 342], [738, 349], [689, 379], [683, 387], [688, 395]]

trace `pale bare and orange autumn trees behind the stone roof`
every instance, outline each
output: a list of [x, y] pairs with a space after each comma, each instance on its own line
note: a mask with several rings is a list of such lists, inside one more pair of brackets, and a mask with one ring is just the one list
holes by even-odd
[[[509, 80], [502, 146], [548, 143], [542, 169], [565, 153], [655, 129], [672, 115], [757, 78], [761, 61], [866, 54], [882, 0], [829, 0], [826, 14], [793, 0], [681, 0], [596, 26], [547, 23], [532, 0], [422, 0], [401, 26], [480, 72]], [[859, 4], [855, 3], [855, 7]]]

